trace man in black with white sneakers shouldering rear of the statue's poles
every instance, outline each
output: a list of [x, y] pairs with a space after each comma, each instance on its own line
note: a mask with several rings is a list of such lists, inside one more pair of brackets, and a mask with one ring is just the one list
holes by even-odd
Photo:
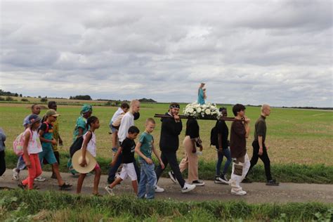
[[[176, 180], [178, 181], [179, 185], [181, 185], [181, 192], [189, 192], [190, 190], [193, 190], [195, 188], [195, 185], [185, 183], [185, 180], [181, 175], [181, 171], [179, 169], [176, 156], [176, 152], [179, 146], [178, 136], [181, 133], [181, 130], [183, 129], [183, 124], [181, 123], [181, 119], [178, 116], [179, 108], [180, 106], [178, 103], [171, 103], [169, 106], [169, 112], [166, 112], [166, 115], [169, 115], [173, 118], [163, 118], [161, 120], [162, 126], [161, 126], [161, 136], [159, 139], [159, 148], [161, 150], [161, 159], [164, 166], [166, 167], [168, 163], [171, 166], [172, 172], [169, 172], [171, 180], [174, 182], [176, 182]], [[161, 164], [157, 166], [157, 169], [155, 171], [157, 176], [157, 181], [159, 179], [159, 176], [161, 176], [162, 172], [164, 171], [164, 169], [162, 169]], [[159, 188], [158, 185], [155, 185], [155, 191], [163, 192], [164, 189]]]

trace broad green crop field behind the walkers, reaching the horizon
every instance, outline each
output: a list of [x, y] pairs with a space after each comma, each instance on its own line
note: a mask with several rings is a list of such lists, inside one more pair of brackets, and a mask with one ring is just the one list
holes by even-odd
[[[68, 100], [67, 100], [68, 101]], [[60, 102], [60, 101], [59, 101]], [[91, 103], [95, 103], [92, 101]], [[103, 105], [103, 103], [100, 103]], [[45, 105], [45, 104], [44, 104]], [[185, 107], [185, 104], [182, 105]], [[230, 106], [228, 115], [233, 116]], [[72, 133], [81, 107], [79, 105], [58, 105], [60, 113], [60, 136], [64, 145], [60, 148], [66, 152], [72, 143]], [[98, 156], [111, 157], [111, 136], [109, 135], [108, 123], [117, 107], [94, 106], [93, 115], [100, 119], [100, 129], [96, 131]], [[136, 126], [143, 131], [144, 122], [155, 113], [164, 113], [168, 110], [167, 104], [141, 104], [141, 117], [136, 121]], [[46, 110], [41, 110], [44, 115]], [[0, 127], [7, 135], [7, 148], [11, 150], [11, 144], [19, 133], [23, 131], [22, 121], [30, 114], [30, 104], [22, 103], [0, 103]], [[252, 139], [254, 123], [259, 117], [259, 107], [247, 107], [246, 115], [252, 119], [251, 136], [247, 140], [249, 157], [252, 156]], [[155, 137], [155, 145], [158, 148], [161, 124], [156, 119], [157, 125], [152, 133]], [[204, 145], [201, 159], [207, 162], [216, 161], [216, 151], [209, 147], [210, 131], [215, 122], [211, 120], [200, 120], [200, 136]], [[230, 129], [230, 122], [227, 123]], [[183, 155], [182, 141], [185, 136], [185, 121], [183, 121], [183, 132], [180, 136], [180, 148], [178, 157]], [[292, 110], [272, 108], [272, 113], [267, 119], [268, 136], [267, 145], [270, 161], [273, 164], [325, 164], [332, 166], [333, 162], [333, 112], [322, 110]]]

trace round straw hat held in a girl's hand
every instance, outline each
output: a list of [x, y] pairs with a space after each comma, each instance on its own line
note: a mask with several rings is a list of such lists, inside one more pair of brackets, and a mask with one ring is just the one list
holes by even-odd
[[72, 165], [76, 171], [78, 171], [80, 174], [87, 174], [92, 171], [97, 164], [95, 157], [93, 157], [93, 155], [91, 155], [88, 150], [86, 150], [86, 166], [80, 166], [81, 162], [82, 150], [80, 149], [77, 150], [77, 152], [75, 152], [72, 157]]

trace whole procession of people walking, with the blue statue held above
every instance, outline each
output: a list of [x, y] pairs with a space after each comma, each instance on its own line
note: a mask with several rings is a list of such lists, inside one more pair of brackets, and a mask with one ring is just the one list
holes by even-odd
[[[205, 90], [202, 89], [204, 84], [200, 84], [198, 91], [198, 101], [204, 103], [206, 98]], [[164, 192], [164, 188], [159, 187], [158, 181], [166, 166], [170, 166], [169, 177], [174, 183], [178, 183], [181, 192], [190, 192], [197, 186], [204, 186], [198, 174], [199, 156], [202, 154], [202, 140], [200, 138], [200, 126], [196, 119], [188, 119], [185, 124], [185, 138], [183, 140], [184, 157], [178, 163], [177, 150], [179, 148], [179, 135], [183, 131], [183, 123], [179, 116], [180, 105], [171, 103], [169, 110], [165, 115], [169, 118], [161, 119], [161, 132], [159, 138], [159, 151], [155, 147], [157, 141], [152, 136], [156, 122], [155, 119], [148, 118], [145, 121], [145, 131], [140, 133], [138, 127], [135, 126], [135, 119], [139, 117], [141, 103], [138, 100], [132, 100], [131, 104], [123, 103], [115, 112], [110, 120], [110, 131], [112, 133], [112, 151], [115, 156], [110, 163], [108, 171], [107, 183], [105, 190], [114, 195], [116, 185], [127, 177], [131, 178], [133, 190], [139, 198], [153, 199], [155, 192]], [[51, 164], [52, 178], [56, 178], [59, 188], [67, 190], [72, 184], [63, 181], [60, 175], [59, 164], [60, 154], [58, 145], [62, 145], [63, 141], [59, 134], [57, 104], [55, 101], [48, 103], [48, 110], [44, 117], [39, 117], [41, 109], [39, 105], [34, 104], [31, 107], [31, 114], [27, 115], [23, 121], [24, 141], [22, 143], [22, 155], [18, 157], [18, 163], [13, 169], [13, 178], [18, 180], [18, 186], [24, 189], [34, 189], [36, 185], [34, 181], [45, 181], [41, 176], [44, 164]], [[261, 115], [256, 121], [254, 129], [253, 155], [251, 161], [247, 155], [246, 141], [250, 132], [250, 119], [245, 115], [246, 107], [241, 104], [233, 106], [233, 115], [238, 121], [234, 121], [229, 129], [226, 122], [219, 119], [216, 122], [216, 176], [215, 183], [226, 183], [231, 186], [233, 195], [245, 195], [240, 183], [251, 183], [248, 178], [248, 172], [258, 162], [260, 158], [265, 166], [267, 183], [266, 185], [279, 185], [270, 174], [270, 159], [268, 157], [268, 146], [266, 146], [266, 117], [270, 115], [270, 106], [262, 105]], [[228, 115], [225, 107], [220, 108], [223, 117]], [[89, 171], [94, 171], [95, 178], [93, 184], [93, 195], [99, 195], [98, 184], [100, 183], [101, 169], [96, 162], [97, 144], [95, 131], [100, 127], [98, 117], [92, 115], [93, 107], [91, 105], [83, 105], [81, 107], [81, 115], [77, 118], [73, 132], [73, 144], [81, 140], [79, 146], [79, 155], [72, 156], [69, 159], [67, 167], [72, 174], [79, 174], [77, 181], [77, 193], [81, 192], [84, 184], [84, 178]], [[213, 131], [212, 131], [213, 132]], [[138, 143], [135, 139], [138, 138]], [[0, 176], [6, 170], [4, 160], [4, 148], [6, 135], [0, 128]], [[135, 153], [138, 155], [136, 162]], [[152, 160], [152, 154], [158, 160], [155, 163]], [[79, 159], [77, 158], [79, 156]], [[75, 158], [74, 158], [75, 157]], [[223, 157], [226, 162], [222, 167]], [[84, 167], [91, 164], [91, 169]], [[77, 163], [78, 162], [78, 163]], [[74, 169], [77, 163], [77, 169]], [[232, 164], [230, 180], [228, 179], [228, 168]], [[116, 176], [119, 167], [122, 165], [119, 176]], [[20, 171], [27, 168], [28, 176], [24, 180], [20, 180]], [[221, 171], [222, 168], [222, 171]], [[188, 181], [183, 178], [183, 171], [188, 169]]]

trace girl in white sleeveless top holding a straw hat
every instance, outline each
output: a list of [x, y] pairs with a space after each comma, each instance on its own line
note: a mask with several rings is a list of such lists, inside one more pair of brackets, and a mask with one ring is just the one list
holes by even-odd
[[[84, 142], [82, 144], [82, 162], [81, 166], [86, 166], [86, 151], [90, 152], [93, 157], [96, 157], [96, 136], [95, 130], [100, 128], [100, 122], [97, 117], [91, 116], [86, 121], [86, 129], [90, 127], [90, 130], [87, 131], [83, 138]], [[93, 195], [98, 196], [98, 184], [100, 183], [100, 174], [102, 171], [100, 170], [100, 165], [98, 163], [95, 166], [95, 178], [93, 179]], [[84, 182], [84, 178], [86, 178], [86, 174], [80, 174], [79, 180], [77, 180], [77, 193], [81, 192], [82, 184]]]

